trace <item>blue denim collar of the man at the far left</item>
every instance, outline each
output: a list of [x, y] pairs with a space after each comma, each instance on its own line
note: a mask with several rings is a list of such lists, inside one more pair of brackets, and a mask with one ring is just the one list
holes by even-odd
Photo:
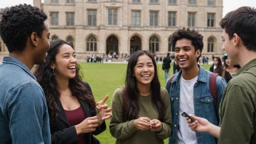
[[33, 79], [36, 80], [36, 77], [33, 75], [33, 73], [29, 70], [29, 68], [24, 64], [22, 63], [20, 60], [17, 60], [16, 58], [14, 57], [4, 57], [3, 59], [3, 63], [5, 64], [12, 64], [12, 65], [17, 65], [19, 66], [20, 68], [23, 68], [23, 70], [28, 73], [28, 75], [30, 75]]

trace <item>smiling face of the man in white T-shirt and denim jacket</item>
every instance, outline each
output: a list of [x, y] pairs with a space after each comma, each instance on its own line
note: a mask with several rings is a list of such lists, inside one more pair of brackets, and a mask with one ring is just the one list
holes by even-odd
[[175, 61], [182, 69], [190, 69], [197, 66], [197, 57], [201, 54], [200, 49], [193, 47], [191, 40], [180, 39], [175, 44]]

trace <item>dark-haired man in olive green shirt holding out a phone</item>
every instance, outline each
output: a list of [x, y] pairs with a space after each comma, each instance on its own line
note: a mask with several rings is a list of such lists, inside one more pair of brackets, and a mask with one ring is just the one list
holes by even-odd
[[[239, 25], [239, 27], [237, 27]], [[198, 116], [188, 120], [197, 132], [218, 138], [218, 144], [256, 143], [256, 9], [239, 7], [220, 21], [223, 47], [231, 65], [241, 65], [225, 89], [220, 103], [220, 127]]]

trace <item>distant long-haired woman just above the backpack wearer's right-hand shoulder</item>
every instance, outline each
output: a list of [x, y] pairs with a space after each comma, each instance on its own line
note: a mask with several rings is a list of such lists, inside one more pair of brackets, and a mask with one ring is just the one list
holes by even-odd
[[213, 59], [213, 64], [209, 68], [209, 71], [213, 73], [217, 73], [218, 76], [222, 76], [224, 78], [224, 68], [223, 68], [223, 63], [221, 63], [220, 57], [215, 57]]

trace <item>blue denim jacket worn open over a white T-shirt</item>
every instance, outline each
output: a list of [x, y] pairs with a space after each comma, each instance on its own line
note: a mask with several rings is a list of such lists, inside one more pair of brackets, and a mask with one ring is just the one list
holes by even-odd
[[[175, 74], [172, 79], [172, 85], [169, 87], [169, 79], [167, 80], [166, 89], [169, 90], [169, 96], [172, 106], [172, 135], [169, 137], [169, 144], [177, 143], [177, 130], [179, 127], [179, 109], [180, 109], [180, 77], [181, 72]], [[196, 116], [207, 119], [212, 124], [217, 124], [217, 116], [215, 113], [214, 100], [209, 90], [209, 76], [211, 72], [204, 70], [199, 65], [199, 76], [193, 88], [193, 104]], [[226, 87], [225, 79], [220, 76], [216, 77], [217, 87], [217, 111], [219, 111], [220, 100], [223, 97], [223, 92]], [[185, 119], [185, 118], [184, 118]], [[196, 132], [196, 139], [199, 144], [216, 143], [215, 137], [204, 132]]]

